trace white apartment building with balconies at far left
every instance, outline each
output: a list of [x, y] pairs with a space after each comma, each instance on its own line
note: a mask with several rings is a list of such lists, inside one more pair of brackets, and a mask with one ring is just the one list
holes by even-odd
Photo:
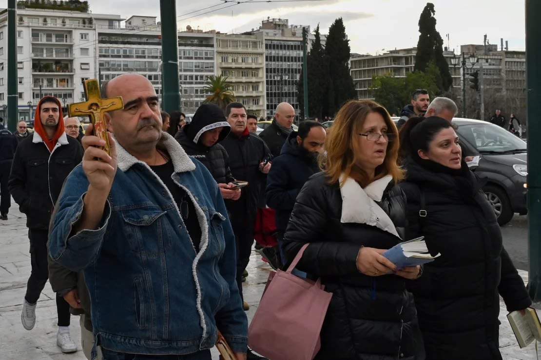
[[[93, 15], [94, 16], [94, 15]], [[7, 56], [7, 11], [0, 14], [0, 58]], [[45, 95], [63, 104], [79, 101], [81, 77], [93, 77], [93, 18], [77, 11], [17, 11], [17, 88], [19, 119], [30, 120]], [[7, 62], [0, 60], [0, 106], [7, 100]], [[5, 114], [5, 110], [4, 110]]]

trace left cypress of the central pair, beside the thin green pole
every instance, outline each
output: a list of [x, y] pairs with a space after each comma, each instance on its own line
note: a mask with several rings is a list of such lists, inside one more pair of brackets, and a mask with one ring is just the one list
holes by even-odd
[[[321, 37], [319, 25], [314, 31], [315, 40], [312, 43], [312, 49], [307, 55], [308, 66], [308, 115], [310, 117], [322, 117], [323, 101], [325, 96], [325, 88], [328, 78], [325, 50], [321, 45]], [[297, 101], [301, 109], [301, 115], [304, 114], [304, 80], [303, 73], [297, 82]]]

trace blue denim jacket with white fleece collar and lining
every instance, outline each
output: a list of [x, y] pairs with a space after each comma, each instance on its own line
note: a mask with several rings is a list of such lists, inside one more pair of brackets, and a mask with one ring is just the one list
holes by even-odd
[[71, 233], [89, 185], [78, 166], [51, 220], [50, 256], [72, 271], [84, 269], [96, 344], [106, 349], [188, 354], [212, 348], [220, 329], [235, 352], [246, 351], [235, 238], [220, 191], [172, 136], [163, 133], [159, 147], [173, 161], [173, 180], [196, 204], [199, 252], [167, 187], [117, 143], [118, 170], [101, 226]]

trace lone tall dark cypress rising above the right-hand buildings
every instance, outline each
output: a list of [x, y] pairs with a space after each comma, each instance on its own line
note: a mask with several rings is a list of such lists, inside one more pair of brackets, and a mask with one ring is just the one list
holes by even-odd
[[441, 77], [441, 87], [438, 93], [447, 91], [453, 79], [449, 71], [449, 64], [443, 56], [443, 40], [436, 30], [436, 10], [434, 4], [427, 3], [419, 17], [419, 41], [417, 42], [417, 54], [415, 55], [415, 70], [426, 71], [430, 62], [436, 64]]

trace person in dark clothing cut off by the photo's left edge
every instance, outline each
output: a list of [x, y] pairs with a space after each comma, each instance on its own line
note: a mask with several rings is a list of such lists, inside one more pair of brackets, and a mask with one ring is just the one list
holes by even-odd
[[8, 220], [8, 211], [11, 206], [8, 180], [16, 148], [17, 138], [4, 127], [4, 119], [0, 117], [0, 220]]

